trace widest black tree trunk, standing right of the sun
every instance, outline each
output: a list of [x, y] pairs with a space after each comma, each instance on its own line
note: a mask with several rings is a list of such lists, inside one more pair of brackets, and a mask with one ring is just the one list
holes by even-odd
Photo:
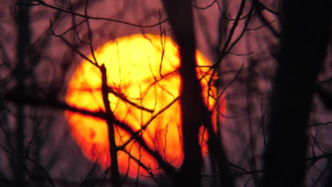
[[282, 1], [282, 35], [268, 123], [264, 187], [302, 187], [306, 125], [330, 35], [331, 1]]

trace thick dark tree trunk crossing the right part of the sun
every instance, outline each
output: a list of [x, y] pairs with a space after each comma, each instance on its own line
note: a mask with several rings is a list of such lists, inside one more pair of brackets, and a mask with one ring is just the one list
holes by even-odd
[[179, 45], [181, 75], [181, 113], [183, 135], [183, 165], [175, 180], [176, 186], [200, 187], [202, 156], [199, 147], [199, 127], [205, 105], [196, 75], [195, 35], [191, 0], [164, 1], [172, 32]]

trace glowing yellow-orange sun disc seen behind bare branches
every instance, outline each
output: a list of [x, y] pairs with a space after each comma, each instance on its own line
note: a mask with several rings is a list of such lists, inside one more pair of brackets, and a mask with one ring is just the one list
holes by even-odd
[[[158, 151], [171, 165], [182, 164], [180, 60], [176, 44], [169, 37], [153, 34], [137, 34], [110, 41], [94, 51], [98, 64], [105, 64], [107, 82], [112, 88], [108, 98], [117, 120], [127, 123], [138, 131], [148, 124], [141, 136], [152, 150]], [[89, 58], [93, 59], [92, 56]], [[196, 52], [197, 75], [200, 79], [204, 102], [212, 110], [215, 100], [207, 97], [207, 82], [210, 79], [210, 62], [199, 51]], [[204, 75], [204, 76], [203, 76]], [[101, 96], [101, 74], [98, 68], [86, 60], [74, 72], [66, 94], [66, 102], [89, 111], [104, 110]], [[211, 87], [211, 95], [216, 89]], [[194, 102], [194, 101], [193, 101]], [[221, 110], [225, 110], [222, 101]], [[169, 107], [167, 107], [169, 106]], [[220, 108], [219, 108], [220, 110]], [[216, 115], [215, 115], [216, 116]], [[213, 117], [216, 118], [216, 117]], [[69, 129], [83, 153], [104, 168], [110, 165], [107, 124], [104, 120], [66, 111]], [[117, 146], [130, 139], [123, 129], [115, 127]], [[206, 134], [203, 139], [206, 139]], [[202, 139], [202, 138], [200, 138]], [[204, 141], [200, 142], [202, 153], [206, 152]], [[139, 169], [134, 158], [158, 173], [158, 164], [137, 142], [130, 141], [124, 151], [118, 151], [121, 173], [136, 176]]]

